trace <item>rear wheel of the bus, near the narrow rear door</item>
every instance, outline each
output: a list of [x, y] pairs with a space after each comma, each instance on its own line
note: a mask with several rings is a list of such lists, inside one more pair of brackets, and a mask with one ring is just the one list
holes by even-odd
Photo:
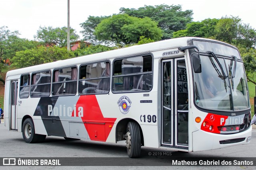
[[39, 135], [35, 134], [34, 123], [31, 118], [24, 121], [22, 125], [22, 136], [26, 143], [36, 143]]

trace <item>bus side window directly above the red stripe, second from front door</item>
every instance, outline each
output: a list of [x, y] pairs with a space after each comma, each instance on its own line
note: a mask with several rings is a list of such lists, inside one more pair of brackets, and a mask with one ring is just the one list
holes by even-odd
[[79, 94], [106, 94], [110, 90], [110, 63], [82, 65], [79, 70]]

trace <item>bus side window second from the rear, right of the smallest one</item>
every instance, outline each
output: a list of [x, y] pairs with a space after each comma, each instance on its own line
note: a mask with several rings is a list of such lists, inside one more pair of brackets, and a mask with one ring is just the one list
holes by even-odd
[[51, 72], [38, 72], [31, 77], [30, 97], [50, 96]]

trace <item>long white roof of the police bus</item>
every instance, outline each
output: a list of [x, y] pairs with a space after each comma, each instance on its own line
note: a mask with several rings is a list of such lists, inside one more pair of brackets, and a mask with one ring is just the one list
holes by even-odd
[[[96, 53], [96, 54], [76, 57], [72, 59], [60, 60], [52, 63], [39, 64], [39, 65], [20, 68], [16, 70], [10, 70], [7, 72], [6, 78], [12, 75], [26, 74], [29, 72], [38, 72], [41, 70], [49, 70], [49, 69], [58, 68], [58, 67], [72, 66], [72, 65], [81, 64], [81, 63], [89, 63], [91, 61], [102, 61], [105, 59], [124, 57], [127, 55], [136, 55], [136, 54], [139, 55], [142, 53], [150, 53], [153, 51], [159, 51], [159, 50], [170, 49], [175, 47], [183, 47], [183, 46], [187, 46], [188, 39], [210, 40], [210, 39], [198, 38], [198, 37], [180, 37], [180, 38], [168, 39], [163, 41], [157, 41], [157, 42], [148, 43], [148, 44], [134, 45], [134, 46], [126, 47], [122, 49], [116, 49], [112, 51], [106, 51], [102, 53]], [[211, 40], [211, 41], [216, 41], [216, 40]], [[216, 41], [216, 42], [220, 42], [220, 41]], [[223, 43], [223, 42], [220, 42], [220, 43]]]

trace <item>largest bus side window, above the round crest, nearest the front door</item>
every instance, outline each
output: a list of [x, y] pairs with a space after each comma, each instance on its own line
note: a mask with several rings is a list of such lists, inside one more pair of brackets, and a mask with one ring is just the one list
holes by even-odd
[[149, 91], [152, 88], [152, 56], [114, 61], [113, 92]]

